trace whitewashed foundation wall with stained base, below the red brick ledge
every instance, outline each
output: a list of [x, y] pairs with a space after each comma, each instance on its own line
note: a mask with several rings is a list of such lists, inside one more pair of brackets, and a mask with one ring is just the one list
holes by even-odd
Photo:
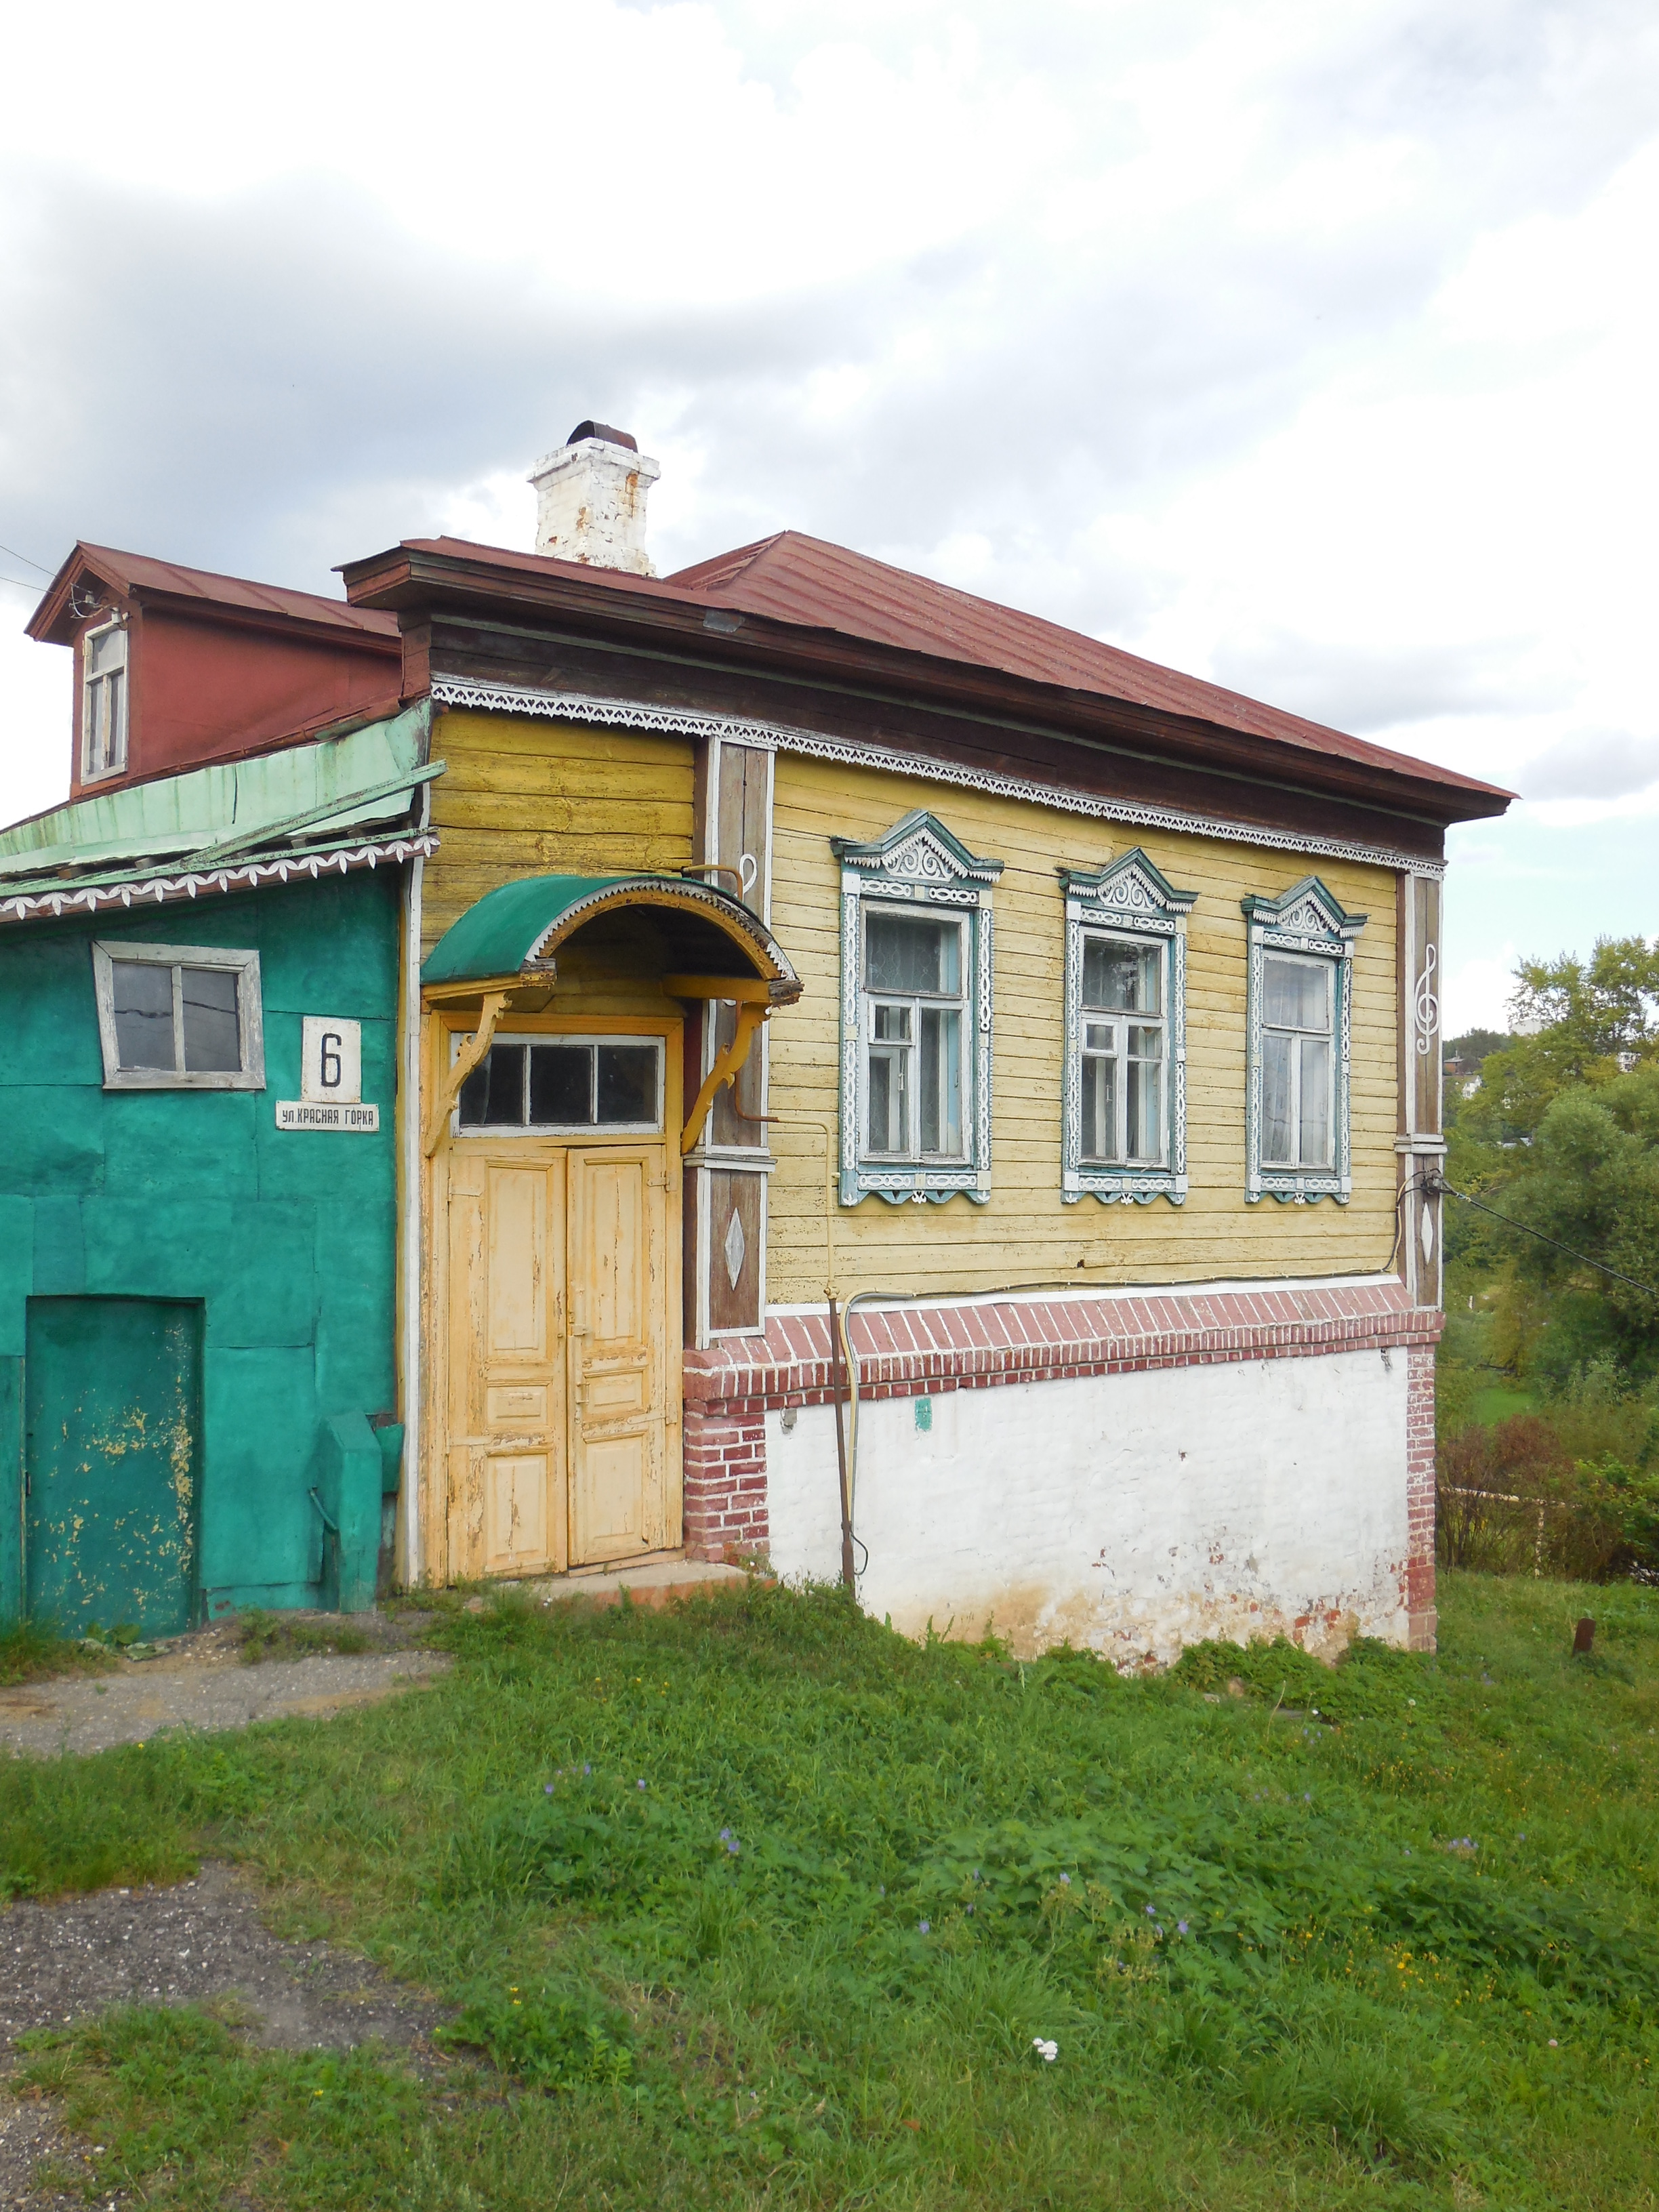
[[[918, 1407], [925, 1409], [918, 1416]], [[832, 1407], [765, 1418], [772, 1566], [834, 1579]], [[1407, 1354], [887, 1398], [860, 1411], [858, 1595], [905, 1635], [1119, 1668], [1201, 1637], [1407, 1639]]]

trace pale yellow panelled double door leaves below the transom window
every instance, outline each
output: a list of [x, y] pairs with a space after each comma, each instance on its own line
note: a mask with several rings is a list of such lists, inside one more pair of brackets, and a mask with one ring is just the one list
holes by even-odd
[[453, 1579], [679, 1544], [677, 1166], [661, 1139], [449, 1148]]

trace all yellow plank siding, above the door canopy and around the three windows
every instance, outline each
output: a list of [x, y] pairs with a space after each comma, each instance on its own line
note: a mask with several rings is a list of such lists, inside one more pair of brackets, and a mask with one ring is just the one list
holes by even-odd
[[[692, 743], [511, 714], [447, 712], [434, 754], [438, 854], [425, 872], [422, 951], [476, 898], [526, 874], [677, 869], [692, 858]], [[1383, 1270], [1394, 1243], [1396, 975], [1394, 891], [1383, 867], [1310, 860], [1259, 845], [1137, 832], [922, 779], [781, 752], [774, 787], [772, 929], [805, 998], [770, 1022], [779, 1172], [770, 1194], [768, 1298], [816, 1301], [825, 1285], [825, 1150], [790, 1117], [836, 1117], [841, 867], [832, 836], [883, 836], [927, 807], [973, 852], [1004, 863], [995, 911], [995, 1029], [989, 1206], [834, 1208], [836, 1279], [852, 1290], [987, 1292], [1013, 1283], [1155, 1283]], [[1186, 1206], [1060, 1201], [1064, 902], [1057, 867], [1102, 867], [1130, 845], [1179, 889], [1188, 920]], [[1318, 874], [1369, 914], [1354, 956], [1354, 1199], [1243, 1201], [1248, 891]], [[571, 969], [588, 995], [599, 975]], [[1082, 1265], [1079, 1265], [1082, 1263]]]

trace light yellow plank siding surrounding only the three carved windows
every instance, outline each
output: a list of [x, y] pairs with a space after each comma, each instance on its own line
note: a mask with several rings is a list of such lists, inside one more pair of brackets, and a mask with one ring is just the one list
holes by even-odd
[[[1214, 1281], [1380, 1270], [1394, 1241], [1396, 982], [1394, 885], [1383, 867], [1310, 860], [1259, 845], [1097, 823], [874, 770], [781, 752], [774, 785], [772, 931], [805, 978], [772, 1015], [774, 1115], [836, 1115], [841, 865], [830, 836], [876, 838], [911, 807], [1002, 860], [995, 887], [989, 1206], [836, 1208], [836, 1276], [854, 1290], [984, 1292], [1037, 1281]], [[1186, 1206], [1060, 1199], [1064, 900], [1057, 867], [1102, 867], [1141, 845], [1199, 902], [1188, 918]], [[1354, 953], [1354, 1197], [1349, 1206], [1243, 1199], [1248, 891], [1279, 894], [1318, 874], [1349, 911], [1369, 914]], [[818, 1298], [825, 1279], [823, 1141], [772, 1130], [768, 1298]], [[1082, 1261], [1082, 1265], [1079, 1265]]]

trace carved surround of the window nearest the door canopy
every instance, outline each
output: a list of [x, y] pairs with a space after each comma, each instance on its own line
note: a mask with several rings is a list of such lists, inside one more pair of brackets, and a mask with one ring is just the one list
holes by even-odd
[[[1002, 860], [969, 852], [945, 823], [925, 810], [905, 814], [874, 843], [830, 838], [841, 860], [841, 1203], [945, 1206], [953, 1197], [991, 1201], [991, 998], [993, 925], [991, 889]], [[962, 1121], [962, 1161], [885, 1164], [863, 1157], [863, 951], [865, 907], [949, 911], [967, 922], [967, 1004], [971, 1051], [964, 1066], [971, 1095]]]

